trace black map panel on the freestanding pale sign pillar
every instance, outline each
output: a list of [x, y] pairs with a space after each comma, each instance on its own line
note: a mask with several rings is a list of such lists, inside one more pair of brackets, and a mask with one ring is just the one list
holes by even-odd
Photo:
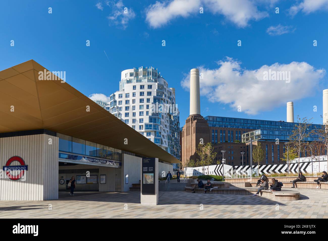
[[142, 194], [155, 195], [155, 158], [142, 158]]

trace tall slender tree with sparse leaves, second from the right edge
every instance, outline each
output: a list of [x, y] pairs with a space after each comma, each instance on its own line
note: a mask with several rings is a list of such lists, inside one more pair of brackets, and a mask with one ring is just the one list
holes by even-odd
[[290, 142], [292, 142], [293, 146], [297, 149], [298, 153], [298, 172], [299, 170], [299, 158], [301, 152], [305, 149], [305, 141], [306, 139], [313, 133], [313, 131], [308, 131], [308, 128], [312, 124], [310, 123], [311, 119], [307, 119], [307, 117], [300, 118], [297, 116], [297, 124], [295, 125], [295, 128], [292, 131], [292, 134], [289, 136]]

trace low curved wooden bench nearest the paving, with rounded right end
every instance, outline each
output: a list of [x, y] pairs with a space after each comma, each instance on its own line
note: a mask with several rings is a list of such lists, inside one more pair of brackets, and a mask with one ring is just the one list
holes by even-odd
[[[192, 187], [186, 187], [186, 192], [192, 193]], [[234, 194], [234, 195], [252, 195], [256, 194], [257, 188], [216, 188], [207, 191], [211, 194]], [[195, 188], [196, 193], [204, 193], [204, 189]], [[284, 190], [273, 192], [271, 190], [262, 190], [260, 196], [274, 197], [276, 201], [296, 201], [299, 200], [299, 192], [294, 190]]]

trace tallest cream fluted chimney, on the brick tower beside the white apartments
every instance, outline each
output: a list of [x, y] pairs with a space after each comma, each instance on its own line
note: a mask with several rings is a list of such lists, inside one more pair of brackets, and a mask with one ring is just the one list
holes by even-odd
[[190, 70], [190, 113], [200, 115], [199, 70]]

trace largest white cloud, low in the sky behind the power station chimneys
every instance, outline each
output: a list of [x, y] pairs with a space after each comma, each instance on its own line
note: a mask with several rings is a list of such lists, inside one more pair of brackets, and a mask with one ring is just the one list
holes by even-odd
[[[210, 102], [229, 104], [232, 109], [247, 114], [269, 111], [277, 106], [313, 94], [315, 86], [325, 75], [324, 69], [315, 69], [305, 62], [263, 65], [256, 70], [241, 68], [241, 63], [226, 57], [217, 62], [218, 67], [208, 69], [200, 66], [200, 94]], [[290, 83], [284, 80], [264, 80], [264, 71], [290, 71]], [[190, 76], [181, 81], [186, 90], [190, 88]]]

